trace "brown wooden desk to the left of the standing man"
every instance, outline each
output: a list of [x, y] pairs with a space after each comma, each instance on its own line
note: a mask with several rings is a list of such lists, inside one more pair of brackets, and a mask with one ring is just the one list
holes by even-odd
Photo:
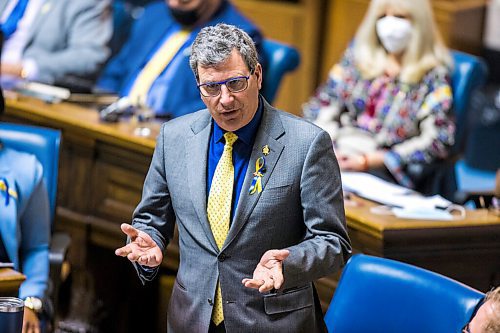
[[[132, 265], [115, 256], [114, 249], [125, 243], [120, 224], [130, 222], [140, 201], [161, 124], [102, 123], [93, 109], [12, 96], [7, 94], [2, 120], [62, 131], [55, 228], [72, 239], [67, 313], [94, 324], [99, 332], [157, 331], [156, 321], [165, 315], [158, 311], [164, 303], [157, 303], [158, 282], [141, 286]], [[135, 135], [139, 126], [150, 128], [151, 134]], [[172, 244], [166, 269], [177, 269], [177, 258]]]

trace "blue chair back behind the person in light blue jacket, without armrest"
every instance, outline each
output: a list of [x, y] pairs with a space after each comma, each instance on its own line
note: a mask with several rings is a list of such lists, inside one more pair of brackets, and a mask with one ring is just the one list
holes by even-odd
[[38, 158], [43, 166], [43, 178], [49, 193], [51, 221], [54, 221], [61, 132], [0, 122], [0, 141], [6, 147], [33, 154]]

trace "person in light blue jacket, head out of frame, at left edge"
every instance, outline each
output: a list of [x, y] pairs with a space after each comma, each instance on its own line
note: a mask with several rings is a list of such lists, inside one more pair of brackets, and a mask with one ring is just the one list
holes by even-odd
[[[1, 140], [1, 138], [0, 138]], [[39, 332], [49, 277], [49, 198], [35, 156], [1, 145], [0, 262], [12, 262], [26, 276], [23, 333]], [[1, 330], [0, 330], [1, 331]]]

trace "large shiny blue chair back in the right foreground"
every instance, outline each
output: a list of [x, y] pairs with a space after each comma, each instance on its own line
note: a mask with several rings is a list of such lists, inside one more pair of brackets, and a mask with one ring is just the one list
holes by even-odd
[[484, 294], [398, 261], [355, 255], [325, 315], [335, 333], [461, 332]]

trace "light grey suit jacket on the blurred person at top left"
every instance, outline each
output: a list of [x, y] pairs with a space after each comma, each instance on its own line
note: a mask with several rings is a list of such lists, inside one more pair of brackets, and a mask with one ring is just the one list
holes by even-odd
[[[9, 1], [0, 0], [0, 15]], [[46, 0], [30, 27], [23, 58], [38, 66], [37, 81], [95, 79], [110, 55], [113, 31], [108, 0]]]

